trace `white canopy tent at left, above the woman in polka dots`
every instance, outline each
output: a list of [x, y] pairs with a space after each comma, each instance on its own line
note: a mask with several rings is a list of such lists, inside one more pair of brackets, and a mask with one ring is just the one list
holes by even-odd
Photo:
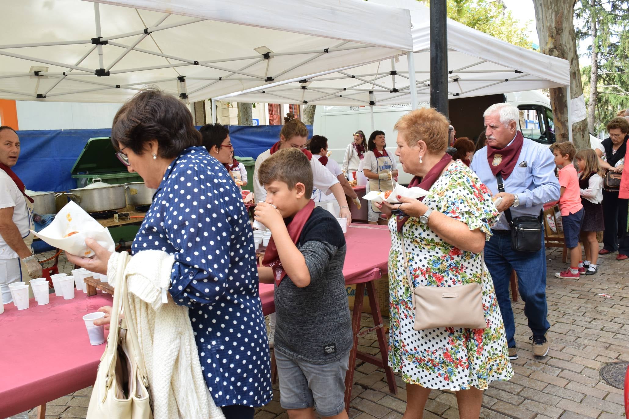
[[408, 10], [362, 0], [5, 2], [0, 98], [124, 102], [156, 85], [199, 101], [394, 57], [410, 30]]

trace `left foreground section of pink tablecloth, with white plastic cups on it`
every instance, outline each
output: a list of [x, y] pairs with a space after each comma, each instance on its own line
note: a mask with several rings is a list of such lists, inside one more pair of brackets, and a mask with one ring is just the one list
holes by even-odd
[[[50, 294], [50, 303], [0, 314], [0, 418], [15, 415], [94, 384], [105, 344], [89, 344], [82, 317], [111, 295], [79, 291], [72, 300]], [[106, 332], [107, 333], [107, 332]]]

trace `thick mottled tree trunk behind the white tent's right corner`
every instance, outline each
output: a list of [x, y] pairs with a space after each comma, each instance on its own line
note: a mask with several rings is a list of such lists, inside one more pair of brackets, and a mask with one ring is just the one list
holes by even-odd
[[[540, 49], [547, 55], [564, 58], [570, 62], [570, 96], [572, 98], [583, 94], [579, 55], [577, 55], [577, 43], [574, 36], [574, 3], [576, 0], [570, 2], [566, 0], [533, 0]], [[568, 104], [566, 91], [563, 87], [550, 89], [550, 103], [554, 114], [557, 142], [569, 141]], [[572, 141], [577, 149], [590, 147], [587, 118], [572, 125]]]

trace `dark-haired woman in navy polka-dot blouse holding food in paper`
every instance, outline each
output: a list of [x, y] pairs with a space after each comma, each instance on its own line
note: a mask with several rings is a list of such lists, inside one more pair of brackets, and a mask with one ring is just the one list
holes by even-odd
[[[273, 394], [253, 234], [240, 191], [220, 161], [203, 147], [186, 105], [158, 89], [142, 90], [120, 108], [111, 141], [128, 171], [137, 172], [148, 188], [157, 189], [131, 245], [128, 266], [134, 260], [135, 266], [152, 266], [147, 275], [159, 272], [164, 278], [155, 283], [170, 284], [169, 303], [189, 308], [187, 332], [194, 330], [196, 347], [192, 344], [192, 359], [184, 350], [178, 359], [188, 359], [194, 377], [179, 387], [180, 392], [209, 391], [206, 400], [211, 397], [226, 418], [253, 419], [254, 408], [269, 403]], [[220, 145], [211, 149], [229, 156], [228, 143]], [[69, 254], [72, 263], [103, 275], [115, 271], [120, 254], [95, 241], [86, 244], [96, 256]], [[144, 285], [133, 288], [130, 282], [130, 292], [141, 288], [145, 298], [157, 296], [155, 304], [161, 307], [162, 288], [153, 281]], [[108, 324], [109, 316], [99, 323]], [[153, 347], [143, 346], [142, 351], [152, 353]], [[149, 381], [153, 373], [159, 371], [150, 369]], [[179, 386], [180, 377], [173, 374], [169, 382]], [[151, 383], [153, 392], [164, 390], [153, 385], [159, 382], [163, 380]], [[181, 417], [176, 410], [189, 407], [187, 398], [175, 393], [175, 399], [177, 395], [181, 405], [171, 403], [175, 412], [169, 417]]]

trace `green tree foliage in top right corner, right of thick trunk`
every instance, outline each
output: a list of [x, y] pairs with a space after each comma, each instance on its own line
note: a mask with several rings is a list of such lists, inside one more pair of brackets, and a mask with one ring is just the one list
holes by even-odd
[[[598, 54], [598, 99], [594, 129], [604, 126], [619, 109], [629, 107], [629, 0], [579, 0], [575, 8], [575, 30], [587, 57]], [[596, 21], [593, 36], [592, 19]], [[591, 65], [582, 68], [584, 90], [589, 93]], [[586, 94], [589, 104], [589, 94]]]

